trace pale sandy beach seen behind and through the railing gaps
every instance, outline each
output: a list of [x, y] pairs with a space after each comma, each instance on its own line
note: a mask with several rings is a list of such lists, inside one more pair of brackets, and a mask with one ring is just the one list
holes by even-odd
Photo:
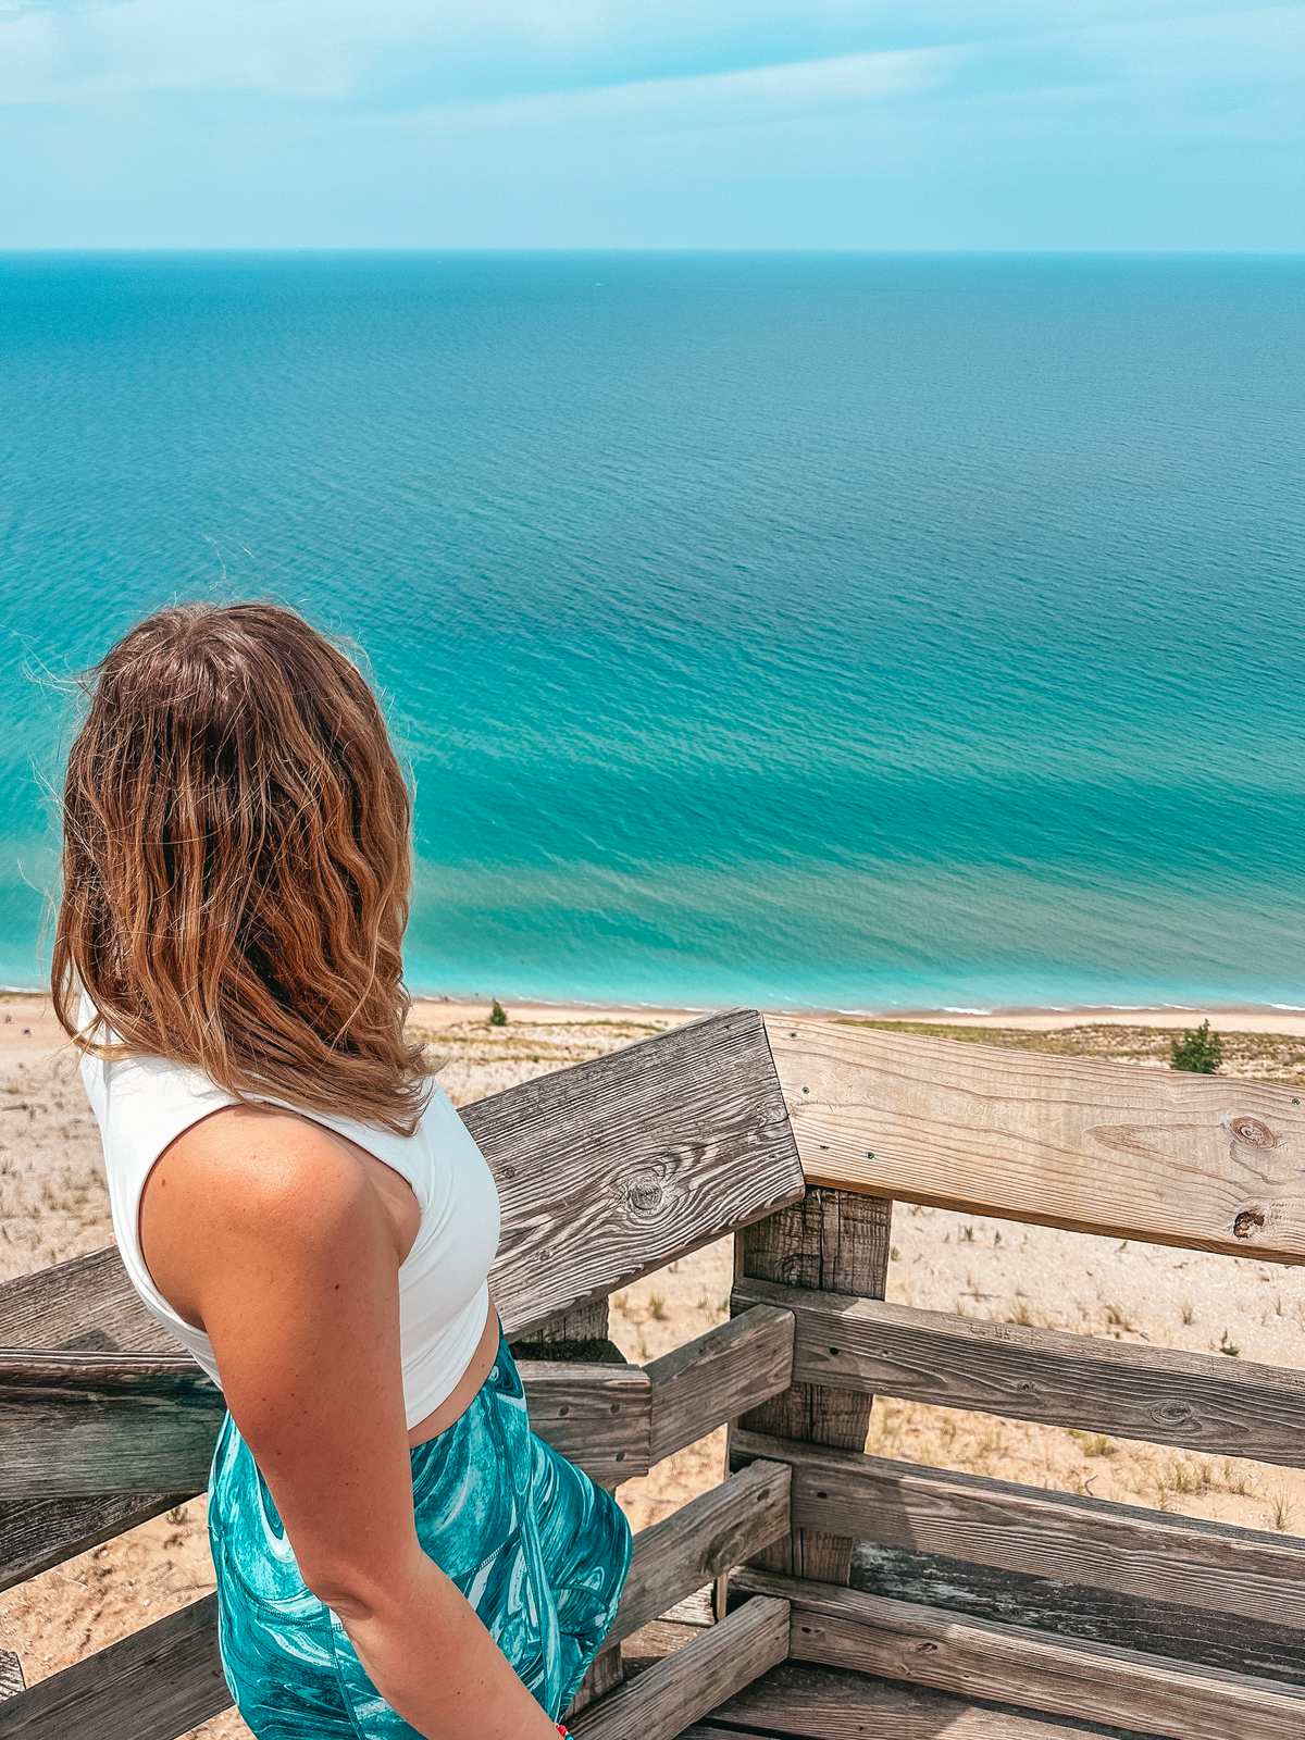
[[[699, 1013], [508, 1004], [506, 1025], [489, 1027], [487, 1002], [423, 997], [414, 1004], [412, 1025], [426, 1037], [432, 1067], [454, 1101], [465, 1105]], [[1161, 1068], [1168, 1065], [1173, 1028], [1195, 1025], [1202, 1014], [1225, 1039], [1227, 1074], [1305, 1081], [1305, 1011], [920, 1013], [907, 1025]], [[99, 1143], [75, 1054], [47, 999], [3, 994], [0, 1279], [106, 1242]], [[666, 1352], [726, 1315], [729, 1277], [729, 1241], [722, 1241], [626, 1288], [612, 1300], [612, 1338], [639, 1362]], [[1305, 1275], [1249, 1258], [1121, 1246], [901, 1206], [894, 1215], [889, 1296], [990, 1321], [1305, 1366]], [[1256, 1528], [1295, 1531], [1305, 1524], [1305, 1474], [1098, 1434], [880, 1401], [868, 1448]], [[628, 1482], [619, 1496], [635, 1528], [712, 1484], [720, 1456], [717, 1434]], [[17, 1651], [33, 1683], [211, 1587], [204, 1500], [193, 1500], [0, 1596], [0, 1644]], [[197, 1733], [231, 1740], [245, 1730], [228, 1712]]]

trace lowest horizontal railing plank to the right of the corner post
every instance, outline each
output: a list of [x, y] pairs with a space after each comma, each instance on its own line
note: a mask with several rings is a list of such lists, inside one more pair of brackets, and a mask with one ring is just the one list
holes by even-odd
[[792, 1603], [799, 1662], [854, 1667], [957, 1696], [1133, 1728], [1162, 1740], [1300, 1740], [1305, 1693], [1164, 1656], [959, 1620], [860, 1589], [743, 1569], [738, 1587]]

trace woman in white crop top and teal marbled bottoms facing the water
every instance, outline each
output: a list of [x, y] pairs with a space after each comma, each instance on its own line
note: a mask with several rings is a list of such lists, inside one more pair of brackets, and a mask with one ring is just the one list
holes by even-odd
[[226, 1401], [231, 1695], [259, 1740], [553, 1740], [630, 1529], [529, 1429], [494, 1181], [404, 1032], [378, 703], [268, 604], [160, 611], [92, 675], [54, 999], [127, 1274]]

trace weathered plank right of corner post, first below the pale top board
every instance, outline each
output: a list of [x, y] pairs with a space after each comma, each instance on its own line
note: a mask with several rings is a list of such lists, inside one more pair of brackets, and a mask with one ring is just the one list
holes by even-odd
[[793, 1371], [807, 1383], [1286, 1467], [1305, 1462], [1300, 1371], [757, 1281], [738, 1282], [734, 1302], [793, 1312]]

